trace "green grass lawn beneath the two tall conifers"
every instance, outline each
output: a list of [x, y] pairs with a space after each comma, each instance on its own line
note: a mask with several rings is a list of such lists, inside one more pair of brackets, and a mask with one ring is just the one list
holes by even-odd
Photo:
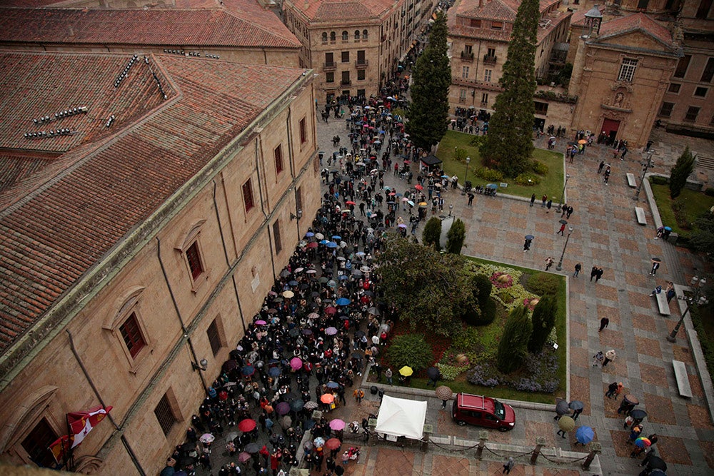
[[[471, 146], [473, 134], [466, 134], [456, 131], [448, 131], [446, 136], [439, 143], [439, 150], [436, 156], [443, 161], [444, 171], [448, 176], [456, 176], [459, 178], [459, 183], [463, 184], [466, 181], [466, 161], [457, 161], [454, 157], [455, 148], [463, 148], [466, 150], [466, 155], [471, 157], [471, 163], [468, 166], [468, 180], [476, 185], [486, 185], [488, 181], [479, 178], [473, 173], [474, 168], [481, 167], [481, 155], [478, 153], [478, 148]], [[547, 151], [542, 148], [536, 148], [533, 153], [535, 160], [545, 163], [548, 166], [548, 176], [542, 177], [540, 183], [536, 186], [517, 185], [512, 180], [506, 178], [503, 182], [508, 183], [508, 188], [499, 188], [501, 193], [516, 195], [526, 198], [531, 198], [531, 194], [540, 197], [545, 195], [553, 197], [553, 201], [560, 200], [560, 195], [563, 193], [563, 154], [558, 152]]]

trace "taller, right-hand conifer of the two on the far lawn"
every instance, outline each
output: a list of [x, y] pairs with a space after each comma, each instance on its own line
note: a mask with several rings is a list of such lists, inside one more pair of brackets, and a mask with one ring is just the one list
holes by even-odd
[[488, 123], [481, 156], [504, 175], [526, 171], [533, 154], [535, 104], [535, 46], [538, 43], [538, 0], [523, 0], [513, 24], [508, 59], [503, 64], [501, 87]]

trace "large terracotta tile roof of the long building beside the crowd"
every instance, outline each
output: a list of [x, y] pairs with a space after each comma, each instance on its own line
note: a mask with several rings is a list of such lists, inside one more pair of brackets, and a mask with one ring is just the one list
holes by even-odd
[[[74, 61], [56, 61], [66, 56]], [[89, 71], [100, 78], [90, 83], [106, 84], [104, 90], [75, 88], [74, 100], [93, 108], [107, 95], [107, 108], [123, 108], [113, 91], [110, 56], [0, 53], [0, 64], [34, 71], [34, 81], [0, 88], [0, 101], [14, 96], [19, 110], [33, 111], [34, 91]], [[166, 101], [119, 124], [112, 136], [56, 158], [0, 197], [0, 353], [304, 71], [180, 56], [151, 56], [150, 63], [166, 78]], [[137, 72], [149, 69], [143, 61], [136, 66]], [[49, 89], [70, 99], [64, 88]], [[144, 91], [148, 103], [154, 96], [156, 90]]]

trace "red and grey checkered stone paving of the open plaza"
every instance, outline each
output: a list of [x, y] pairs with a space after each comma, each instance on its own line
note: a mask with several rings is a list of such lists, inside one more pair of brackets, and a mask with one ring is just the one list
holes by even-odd
[[[319, 150], [332, 153], [331, 138], [336, 134], [341, 136], [343, 145], [348, 144], [346, 133], [343, 120], [331, 118], [327, 124], [319, 121]], [[671, 141], [671, 135], [655, 142], [655, 146], [660, 151], [671, 152], [655, 155], [654, 172], [668, 173], [677, 158], [672, 155], [673, 151], [682, 148], [681, 143], [664, 143], [665, 139]], [[545, 148], [545, 138], [537, 145]], [[704, 406], [685, 329], [680, 330], [677, 343], [665, 340], [665, 335], [679, 319], [680, 311], [673, 302], [672, 315], [662, 317], [657, 312], [655, 300], [648, 296], [656, 285], [664, 285], [668, 280], [685, 284], [692, 275], [711, 269], [688, 250], [675, 248], [663, 240], [653, 240], [655, 230], [651, 211], [643, 201], [644, 192], [640, 194], [639, 206], [645, 208], [648, 226], [636, 223], [633, 189], [628, 188], [625, 173], [632, 172], [639, 180], [641, 157], [640, 151], [630, 151], [627, 160], [611, 163], [613, 170], [608, 185], [603, 183], [597, 168], [601, 159], [610, 163], [612, 153], [609, 148], [593, 146], [584, 156], [577, 156], [573, 164], [566, 164], [570, 179], [565, 201], [575, 209], [569, 221], [575, 231], [570, 236], [563, 260], [563, 273], [570, 276], [570, 399], [585, 402], [579, 422], [592, 426], [597, 440], [603, 445], [600, 456], [603, 474], [639, 472], [636, 460], [628, 457], [630, 446], [625, 444], [623, 420], [616, 412], [618, 403], [604, 397], [608, 384], [613, 381], [622, 381], [625, 392], [636, 395], [640, 400], [639, 407], [648, 411], [650, 416], [643, 422], [644, 433], [660, 435], [656, 446], [668, 462], [670, 474], [712, 474], [714, 427]], [[406, 181], [391, 173], [385, 174], [385, 182], [395, 186], [397, 191], [407, 188]], [[467, 207], [466, 197], [458, 191], [446, 193], [445, 201], [445, 210], [449, 203], [453, 203], [454, 215], [466, 223], [464, 254], [535, 269], [543, 269], [548, 256], [557, 263], [565, 238], [555, 235], [560, 219], [555, 209], [545, 213], [538, 202], [531, 208], [526, 201], [481, 195], [476, 196], [472, 207]], [[417, 231], [420, 237], [421, 228], [423, 225]], [[533, 234], [535, 240], [531, 250], [523, 253], [523, 236], [526, 234]], [[664, 261], [657, 276], [653, 277], [648, 271], [650, 258], [655, 255]], [[578, 278], [572, 278], [578, 262], [583, 263], [583, 271]], [[599, 283], [589, 280], [588, 271], [593, 265], [605, 271]], [[610, 325], [599, 333], [599, 320], [603, 315], [610, 318]], [[609, 349], [617, 353], [615, 361], [603, 369], [593, 368], [592, 355], [598, 350]], [[671, 365], [673, 359], [687, 364], [694, 394], [691, 400], [678, 395]], [[429, 415], [431, 406], [430, 403]], [[429, 415], [428, 419], [431, 418]], [[444, 420], [448, 420], [448, 415]], [[535, 436], [543, 435], [548, 445], [563, 450], [578, 448], [572, 447], [572, 435], [565, 440], [555, 438], [557, 427], [553, 424], [552, 414], [519, 410], [518, 420], [519, 424], [512, 432], [491, 432], [492, 440], [489, 441], [532, 446]], [[436, 435], [458, 435], [459, 432], [473, 435], [474, 440], [478, 434], [477, 429], [449, 427], [441, 420], [435, 430]], [[512, 474], [519, 473], [514, 470]]]

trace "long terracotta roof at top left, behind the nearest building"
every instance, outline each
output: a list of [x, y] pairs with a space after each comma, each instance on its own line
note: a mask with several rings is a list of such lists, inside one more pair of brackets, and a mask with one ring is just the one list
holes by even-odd
[[[244, 8], [248, 9], [248, 2], [245, 3]], [[0, 9], [0, 41], [300, 47], [287, 27], [280, 29], [274, 21], [268, 26], [258, 23], [257, 19], [267, 16], [257, 4], [255, 11], [246, 17], [223, 9]]]

